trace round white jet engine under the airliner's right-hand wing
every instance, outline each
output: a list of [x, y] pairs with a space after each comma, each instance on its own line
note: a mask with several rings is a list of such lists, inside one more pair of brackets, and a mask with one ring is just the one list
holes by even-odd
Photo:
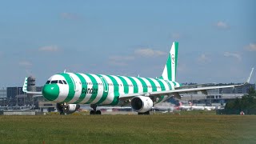
[[153, 101], [150, 97], [138, 96], [131, 100], [130, 105], [135, 111], [145, 113], [152, 109]]

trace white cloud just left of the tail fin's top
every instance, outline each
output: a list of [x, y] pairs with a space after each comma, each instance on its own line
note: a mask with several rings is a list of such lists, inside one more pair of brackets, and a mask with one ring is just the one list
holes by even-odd
[[135, 50], [134, 53], [147, 58], [166, 55], [165, 52], [162, 52], [160, 50], [152, 50], [152, 49], [138, 49], [138, 50]]

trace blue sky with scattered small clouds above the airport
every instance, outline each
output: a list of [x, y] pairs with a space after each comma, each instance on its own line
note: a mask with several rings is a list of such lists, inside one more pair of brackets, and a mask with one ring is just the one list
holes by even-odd
[[[0, 87], [67, 72], [245, 82], [256, 68], [256, 1], [2, 1]], [[256, 82], [253, 74], [252, 83]]]

